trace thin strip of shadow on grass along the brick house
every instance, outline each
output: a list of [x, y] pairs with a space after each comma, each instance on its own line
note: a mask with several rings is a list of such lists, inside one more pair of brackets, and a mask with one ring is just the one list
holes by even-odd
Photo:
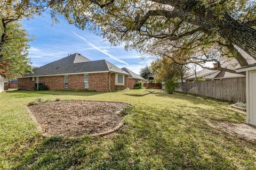
[[105, 94], [107, 92], [97, 92], [97, 91], [75, 91], [75, 90], [45, 90], [45, 91], [34, 91], [34, 90], [14, 90], [6, 91], [6, 93], [11, 94], [10, 97], [37, 97], [41, 95], [72, 95], [72, 96], [95, 96], [100, 94]]

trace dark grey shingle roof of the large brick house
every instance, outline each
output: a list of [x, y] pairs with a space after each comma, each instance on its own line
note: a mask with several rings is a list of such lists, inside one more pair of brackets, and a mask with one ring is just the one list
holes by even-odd
[[37, 77], [46, 75], [63, 75], [90, 72], [115, 72], [128, 75], [114, 64], [106, 60], [90, 61], [81, 54], [71, 54], [65, 58], [43, 65], [34, 70], [34, 73], [26, 74], [23, 77]]

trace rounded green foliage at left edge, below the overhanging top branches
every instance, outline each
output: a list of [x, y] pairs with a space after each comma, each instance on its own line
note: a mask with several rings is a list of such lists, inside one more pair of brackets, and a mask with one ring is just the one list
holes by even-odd
[[[3, 29], [0, 29], [3, 35]], [[5, 28], [5, 43], [0, 56], [0, 74], [5, 78], [18, 77], [31, 71], [28, 58], [28, 33], [21, 24], [12, 22]]]

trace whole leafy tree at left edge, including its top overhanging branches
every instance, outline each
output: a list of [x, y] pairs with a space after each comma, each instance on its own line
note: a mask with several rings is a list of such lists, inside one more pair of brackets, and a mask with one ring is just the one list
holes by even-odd
[[33, 1], [8, 0], [0, 3], [0, 74], [5, 78], [18, 77], [31, 71], [28, 58], [28, 33], [19, 20], [33, 18], [44, 10]]

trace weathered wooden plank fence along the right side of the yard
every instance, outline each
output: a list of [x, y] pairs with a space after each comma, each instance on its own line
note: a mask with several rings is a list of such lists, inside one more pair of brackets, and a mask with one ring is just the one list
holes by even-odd
[[176, 91], [234, 102], [246, 102], [245, 78], [178, 83]]

